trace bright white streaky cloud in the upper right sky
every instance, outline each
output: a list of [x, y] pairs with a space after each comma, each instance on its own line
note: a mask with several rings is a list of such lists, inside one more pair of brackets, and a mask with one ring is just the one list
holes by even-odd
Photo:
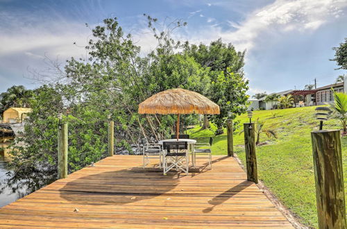
[[[344, 15], [346, 8], [346, 0], [276, 0], [251, 12], [243, 22], [227, 21], [236, 30], [225, 31], [221, 26], [213, 24], [195, 34], [190, 31], [189, 39], [205, 43], [221, 37], [225, 42], [232, 42], [239, 50], [250, 50], [262, 37], [268, 40], [269, 36], [282, 33], [315, 31]], [[212, 17], [207, 20], [208, 23], [214, 21]]]

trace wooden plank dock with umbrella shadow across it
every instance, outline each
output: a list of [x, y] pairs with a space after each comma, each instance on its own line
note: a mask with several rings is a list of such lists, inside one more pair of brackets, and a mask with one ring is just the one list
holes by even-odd
[[293, 228], [234, 158], [212, 160], [163, 176], [142, 156], [105, 158], [2, 207], [0, 228]]

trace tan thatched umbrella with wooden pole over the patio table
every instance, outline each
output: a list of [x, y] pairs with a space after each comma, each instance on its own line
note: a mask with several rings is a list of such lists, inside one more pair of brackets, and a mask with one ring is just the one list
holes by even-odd
[[219, 105], [197, 92], [176, 88], [154, 94], [139, 103], [139, 114], [177, 114], [178, 140], [180, 114], [219, 114]]

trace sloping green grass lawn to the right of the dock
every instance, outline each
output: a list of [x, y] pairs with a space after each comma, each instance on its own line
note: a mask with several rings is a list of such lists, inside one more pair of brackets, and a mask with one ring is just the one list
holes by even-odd
[[[260, 142], [268, 144], [257, 146], [258, 177], [286, 207], [298, 215], [301, 223], [317, 227], [316, 196], [314, 187], [314, 168], [310, 132], [318, 130], [314, 109], [290, 108], [283, 110], [263, 110], [253, 112], [253, 119], [265, 120], [264, 128], [276, 130], [278, 139], [269, 139], [264, 133]], [[238, 117], [241, 121], [234, 135], [234, 150], [245, 164], [244, 135], [239, 132], [248, 119], [246, 114]], [[339, 121], [330, 119], [325, 129], [339, 129]], [[212, 127], [213, 129], [213, 127]], [[198, 142], [208, 142], [213, 137], [214, 155], [227, 154], [225, 134], [214, 136], [212, 130], [200, 130], [200, 126], [189, 130], [191, 137]], [[344, 163], [344, 184], [347, 186], [347, 137], [342, 137], [342, 157]], [[347, 199], [347, 198], [346, 198]]]

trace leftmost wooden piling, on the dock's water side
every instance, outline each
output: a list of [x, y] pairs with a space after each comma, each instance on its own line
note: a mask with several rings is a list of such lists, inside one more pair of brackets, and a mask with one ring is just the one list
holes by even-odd
[[67, 178], [67, 124], [58, 126], [58, 179]]

